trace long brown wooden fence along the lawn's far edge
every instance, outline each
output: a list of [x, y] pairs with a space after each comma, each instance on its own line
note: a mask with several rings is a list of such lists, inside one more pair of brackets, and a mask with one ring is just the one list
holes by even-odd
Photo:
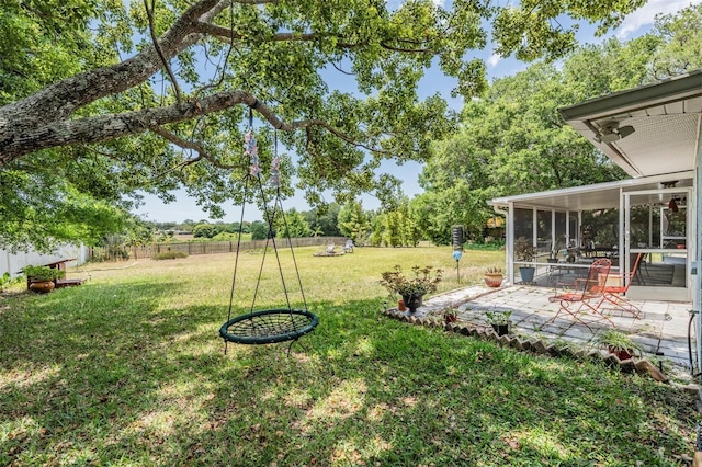
[[[278, 248], [314, 247], [327, 246], [333, 241], [338, 248], [342, 248], [347, 241], [346, 237], [304, 237], [304, 238], [276, 238], [275, 246]], [[265, 247], [267, 240], [250, 240], [240, 243], [241, 251], [260, 250]], [[272, 240], [268, 241], [272, 247]], [[138, 260], [143, 258], [151, 258], [166, 251], [181, 251], [188, 255], [191, 254], [216, 254], [231, 253], [237, 250], [236, 241], [202, 241], [202, 242], [182, 242], [182, 243], [151, 243], [141, 247], [94, 247], [89, 249], [88, 258], [90, 260]]]

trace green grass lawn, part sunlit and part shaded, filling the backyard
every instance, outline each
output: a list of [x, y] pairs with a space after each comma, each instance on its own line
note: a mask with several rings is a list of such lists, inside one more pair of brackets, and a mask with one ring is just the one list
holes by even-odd
[[[0, 297], [0, 465], [678, 466], [694, 396], [602, 364], [403, 323], [377, 281], [450, 248], [295, 251], [320, 320], [287, 344], [224, 343], [234, 257], [91, 264], [89, 281]], [[234, 316], [262, 252], [239, 258]], [[293, 258], [281, 252], [283, 269]], [[466, 251], [463, 285], [503, 253]], [[294, 271], [290, 299], [303, 301]], [[267, 255], [257, 308], [284, 304]], [[259, 306], [260, 305], [260, 306]]]

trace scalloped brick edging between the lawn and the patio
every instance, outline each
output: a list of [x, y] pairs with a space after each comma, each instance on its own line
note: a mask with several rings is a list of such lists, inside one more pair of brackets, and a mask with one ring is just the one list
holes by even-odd
[[625, 360], [621, 361], [612, 353], [601, 350], [586, 350], [586, 349], [571, 349], [570, 346], [558, 346], [552, 342], [544, 341], [542, 339], [536, 340], [521, 340], [518, 337], [500, 335], [498, 337], [491, 329], [475, 326], [471, 323], [444, 323], [438, 319], [430, 319], [427, 317], [407, 316], [399, 312], [396, 308], [389, 308], [382, 311], [383, 315], [397, 319], [399, 321], [408, 322], [410, 324], [427, 326], [430, 328], [443, 328], [449, 332], [455, 332], [463, 335], [469, 335], [482, 340], [489, 340], [499, 343], [503, 346], [509, 346], [520, 351], [534, 352], [543, 355], [551, 356], [570, 356], [576, 360], [586, 361], [601, 361], [612, 368], [619, 368], [621, 372], [631, 373], [636, 371], [638, 374], [648, 375], [657, 381], [668, 383], [669, 379], [664, 375], [653, 363], [647, 358], [639, 360]]

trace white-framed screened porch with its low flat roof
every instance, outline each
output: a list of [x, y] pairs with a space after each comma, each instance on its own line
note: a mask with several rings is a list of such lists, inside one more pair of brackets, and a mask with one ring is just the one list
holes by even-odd
[[[508, 281], [552, 286], [599, 258], [632, 271], [641, 254], [632, 298], [690, 300], [693, 180], [686, 171], [494, 200], [507, 217]], [[531, 260], [514, 248], [524, 241], [535, 248]], [[524, 266], [533, 277], [520, 273]]]

